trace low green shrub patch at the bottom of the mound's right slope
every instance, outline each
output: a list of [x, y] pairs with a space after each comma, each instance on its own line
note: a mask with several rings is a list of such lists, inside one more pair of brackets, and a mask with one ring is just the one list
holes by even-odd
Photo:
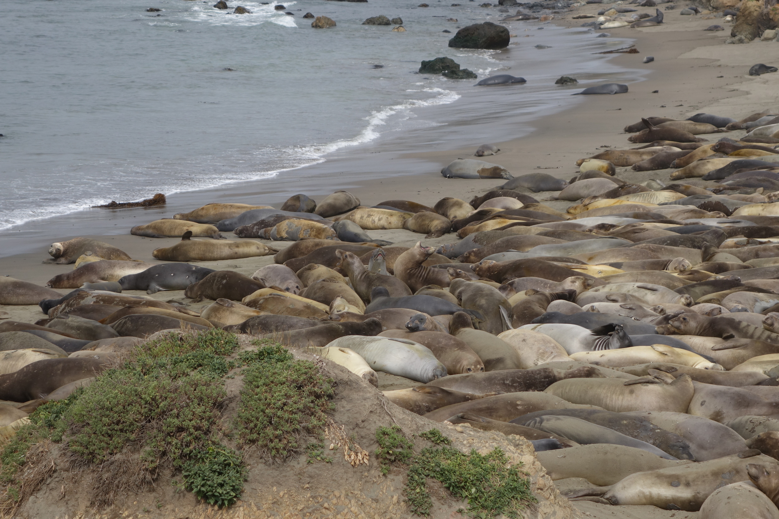
[[528, 503], [537, 500], [530, 482], [499, 448], [486, 455], [477, 451], [463, 454], [451, 447], [428, 447], [414, 458], [408, 471], [406, 497], [411, 511], [429, 515], [432, 500], [427, 478], [437, 479], [453, 496], [468, 501], [468, 514], [494, 517], [503, 514], [516, 519]]

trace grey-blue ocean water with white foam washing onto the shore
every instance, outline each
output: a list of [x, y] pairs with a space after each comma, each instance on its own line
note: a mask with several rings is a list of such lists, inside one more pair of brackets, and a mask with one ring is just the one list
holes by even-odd
[[[262, 185], [291, 170], [299, 180], [366, 146], [513, 139], [541, 114], [581, 102], [570, 96], [576, 88], [553, 85], [560, 75], [581, 88], [643, 74], [594, 54], [626, 40], [538, 21], [510, 23], [516, 37], [502, 51], [452, 49], [457, 27], [506, 14], [467, 0], [416, 2], [297, 0], [284, 2], [288, 16], [274, 9], [280, 2], [246, 0], [229, 0], [228, 11], [199, 0], [5, 0], [0, 231], [88, 219], [91, 205], [157, 192]], [[227, 14], [235, 5], [253, 13]], [[305, 12], [337, 27], [312, 29]], [[361, 25], [380, 14], [402, 17], [407, 32]], [[528, 82], [477, 88], [417, 73], [437, 56], [479, 79], [510, 73]]]

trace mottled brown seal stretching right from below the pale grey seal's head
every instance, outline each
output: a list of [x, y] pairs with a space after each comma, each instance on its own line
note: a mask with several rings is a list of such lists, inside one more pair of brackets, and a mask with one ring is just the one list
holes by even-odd
[[558, 380], [579, 377], [603, 377], [594, 366], [582, 366], [573, 370], [538, 368], [534, 370], [499, 370], [484, 373], [450, 374], [429, 382], [429, 386], [446, 387], [465, 393], [519, 393], [544, 391]]

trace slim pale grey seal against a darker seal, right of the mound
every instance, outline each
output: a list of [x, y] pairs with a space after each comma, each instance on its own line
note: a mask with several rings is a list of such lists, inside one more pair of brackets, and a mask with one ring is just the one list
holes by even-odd
[[[536, 415], [538, 413], [531, 414]], [[520, 425], [562, 436], [575, 441], [577, 444], [625, 445], [626, 447], [636, 447], [637, 449], [650, 452], [661, 458], [669, 460], [677, 459], [670, 454], [666, 454], [657, 447], [654, 447], [654, 445], [647, 444], [645, 441], [636, 440], [633, 437], [618, 433], [608, 427], [590, 423], [574, 416], [545, 415], [534, 416], [534, 418], [531, 419], [525, 419], [525, 416], [521, 418], [523, 419], [523, 422], [520, 423]]]

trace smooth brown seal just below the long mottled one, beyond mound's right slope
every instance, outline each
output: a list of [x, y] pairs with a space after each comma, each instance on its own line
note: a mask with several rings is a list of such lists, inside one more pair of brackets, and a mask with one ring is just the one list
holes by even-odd
[[541, 391], [523, 391], [447, 405], [433, 412], [428, 412], [425, 418], [431, 419], [433, 422], [442, 422], [449, 416], [459, 415], [462, 412], [471, 412], [474, 415], [484, 416], [485, 418], [509, 422], [517, 416], [545, 409], [594, 409], [594, 407], [591, 405], [572, 404], [562, 398], [557, 398], [554, 395], [548, 395]]

